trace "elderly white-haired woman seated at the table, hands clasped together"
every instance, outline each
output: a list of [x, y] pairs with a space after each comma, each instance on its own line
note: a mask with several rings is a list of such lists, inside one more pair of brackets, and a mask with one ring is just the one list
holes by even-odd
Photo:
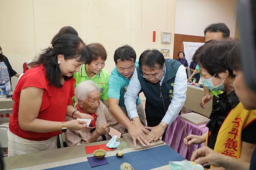
[[[76, 109], [81, 113], [91, 115], [93, 119], [87, 128], [67, 130], [68, 146], [109, 140], [111, 139], [109, 136], [110, 127], [121, 133], [125, 132], [125, 128], [116, 121], [109, 109], [101, 102], [99, 88], [94, 82], [91, 80], [80, 82], [76, 86], [75, 95]], [[73, 120], [73, 118], [67, 117], [66, 120]]]

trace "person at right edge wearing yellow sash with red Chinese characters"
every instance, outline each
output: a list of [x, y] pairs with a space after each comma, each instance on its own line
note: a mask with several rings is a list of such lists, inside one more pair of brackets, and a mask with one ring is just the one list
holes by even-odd
[[251, 162], [250, 170], [256, 169], [256, 150], [254, 149], [256, 146], [256, 93], [245, 84], [244, 73], [241, 70], [241, 57], [243, 56], [240, 56], [239, 46], [236, 45], [225, 59], [227, 67], [235, 74], [234, 86], [240, 103], [223, 122], [214, 151], [209, 147], [200, 148], [193, 152], [191, 161], [199, 164], [208, 162], [217, 167], [224, 167], [226, 170], [249, 170], [249, 162]]

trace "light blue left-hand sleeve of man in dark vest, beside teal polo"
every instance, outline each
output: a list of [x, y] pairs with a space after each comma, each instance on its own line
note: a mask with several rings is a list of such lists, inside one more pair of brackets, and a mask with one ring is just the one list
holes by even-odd
[[137, 69], [135, 69], [128, 85], [127, 91], [124, 94], [124, 105], [126, 107], [128, 117], [131, 120], [134, 117], [139, 117], [137, 112], [136, 100], [138, 99], [138, 94], [141, 89], [142, 86], [140, 85], [140, 80], [138, 79]]

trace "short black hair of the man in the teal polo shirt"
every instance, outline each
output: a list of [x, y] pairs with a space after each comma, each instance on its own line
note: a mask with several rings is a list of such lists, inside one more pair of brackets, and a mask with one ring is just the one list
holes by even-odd
[[134, 63], [136, 61], [136, 52], [131, 46], [125, 45], [117, 48], [114, 51], [114, 62], [117, 64], [117, 60], [121, 61], [131, 61], [133, 59]]

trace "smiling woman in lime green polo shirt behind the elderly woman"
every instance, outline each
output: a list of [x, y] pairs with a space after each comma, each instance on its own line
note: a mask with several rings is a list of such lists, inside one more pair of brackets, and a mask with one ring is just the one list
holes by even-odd
[[[107, 52], [103, 45], [99, 43], [89, 44], [86, 46], [91, 53], [91, 59], [87, 63], [81, 65], [80, 71], [74, 74], [76, 85], [85, 80], [91, 80], [99, 86], [101, 101], [108, 106], [109, 92], [109, 72], [105, 67]], [[75, 96], [72, 98], [75, 105]]]

